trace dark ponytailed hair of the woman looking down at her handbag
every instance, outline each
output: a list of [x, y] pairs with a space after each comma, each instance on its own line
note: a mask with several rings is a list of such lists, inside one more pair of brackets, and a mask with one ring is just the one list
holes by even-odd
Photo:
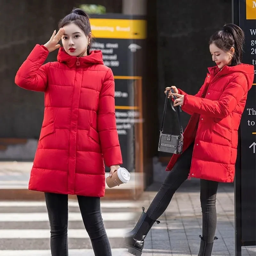
[[231, 47], [234, 47], [235, 52], [233, 54], [231, 65], [235, 66], [242, 63], [244, 31], [237, 25], [224, 25], [222, 29], [211, 36], [209, 44], [215, 44], [225, 52], [229, 52]]

